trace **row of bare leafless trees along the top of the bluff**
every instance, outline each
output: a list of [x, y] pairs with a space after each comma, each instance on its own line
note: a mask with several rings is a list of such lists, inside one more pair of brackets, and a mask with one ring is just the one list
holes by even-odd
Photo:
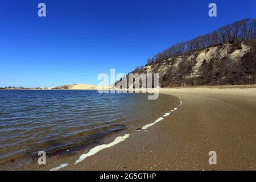
[[147, 59], [147, 65], [199, 49], [218, 46], [225, 42], [240, 42], [253, 39], [256, 39], [256, 19], [247, 18], [218, 28], [218, 30], [210, 34], [198, 36], [187, 42], [176, 43], [163, 52]]

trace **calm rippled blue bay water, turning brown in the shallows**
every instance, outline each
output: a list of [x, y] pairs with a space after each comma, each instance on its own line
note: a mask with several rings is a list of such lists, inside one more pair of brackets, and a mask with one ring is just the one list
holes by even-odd
[[114, 131], [136, 129], [177, 98], [97, 90], [0, 90], [0, 163], [38, 151], [73, 150]]

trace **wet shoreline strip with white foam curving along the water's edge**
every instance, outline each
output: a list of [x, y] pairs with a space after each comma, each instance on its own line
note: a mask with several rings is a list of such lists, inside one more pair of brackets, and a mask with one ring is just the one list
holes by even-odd
[[[115, 144], [118, 144], [123, 140], [125, 140], [126, 138], [129, 138], [130, 135], [134, 135], [135, 133], [138, 133], [138, 132], [147, 131], [148, 128], [154, 127], [153, 125], [155, 125], [158, 122], [161, 122], [163, 118], [168, 117], [168, 115], [170, 115], [172, 112], [178, 109], [177, 107], [181, 106], [182, 103], [180, 102], [180, 99], [177, 97], [171, 96], [170, 97], [170, 99], [172, 99], [171, 101], [173, 101], [173, 98], [174, 99], [176, 98], [175, 100], [177, 100], [177, 102], [175, 102], [175, 104], [171, 104], [170, 107], [164, 109], [164, 110], [170, 110], [170, 111], [169, 112], [162, 111], [161, 113], [156, 113], [155, 121], [151, 120], [154, 118], [151, 118], [150, 121], [144, 121], [144, 122], [138, 121], [137, 127], [129, 127], [125, 130], [114, 132], [104, 138], [101, 138], [97, 142], [93, 142], [93, 143], [90, 143], [88, 146], [84, 146], [83, 148], [81, 148], [81, 150], [78, 150], [72, 153], [66, 152], [66, 154], [64, 155], [57, 155], [57, 158], [55, 158], [55, 156], [53, 157], [47, 154], [48, 165], [46, 166], [39, 166], [37, 163], [38, 157], [35, 156], [32, 163], [28, 164], [27, 166], [23, 166], [19, 168], [19, 170], [32, 169], [32, 170], [56, 171], [62, 168], [65, 170], [65, 167], [67, 166], [71, 166], [72, 164], [75, 164], [75, 163], [80, 163], [82, 162], [82, 160], [84, 160], [88, 156], [91, 156], [94, 154], [97, 155], [99, 151], [105, 148], [109, 148], [112, 146], [114, 147]], [[86, 156], [86, 157], [84, 158], [83, 156]]]

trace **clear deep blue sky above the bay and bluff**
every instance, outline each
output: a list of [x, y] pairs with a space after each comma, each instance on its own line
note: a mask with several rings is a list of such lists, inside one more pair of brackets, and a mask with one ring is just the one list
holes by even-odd
[[[38, 3], [47, 17], [38, 17]], [[210, 2], [217, 18], [208, 16]], [[127, 73], [172, 44], [244, 18], [256, 1], [2, 0], [0, 86], [97, 85], [99, 73]]]

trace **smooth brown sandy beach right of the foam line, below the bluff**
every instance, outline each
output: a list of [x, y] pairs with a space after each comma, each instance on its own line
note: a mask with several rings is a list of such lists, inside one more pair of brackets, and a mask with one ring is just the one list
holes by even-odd
[[[183, 104], [147, 130], [133, 131], [123, 142], [78, 164], [74, 163], [79, 156], [89, 150], [23, 169], [49, 170], [69, 163], [61, 170], [256, 170], [255, 88], [160, 89], [160, 93], [181, 97]], [[208, 163], [212, 150], [217, 152], [217, 165]]]

